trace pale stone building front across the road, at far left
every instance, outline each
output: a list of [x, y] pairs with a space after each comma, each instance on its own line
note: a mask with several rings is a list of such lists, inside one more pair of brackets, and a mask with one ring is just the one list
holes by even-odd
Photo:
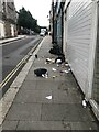
[[1, 37], [16, 36], [16, 12], [13, 0], [0, 0], [1, 3]]

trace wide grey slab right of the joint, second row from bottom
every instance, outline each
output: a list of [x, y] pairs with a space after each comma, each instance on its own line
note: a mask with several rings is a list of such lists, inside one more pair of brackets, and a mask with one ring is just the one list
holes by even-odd
[[42, 107], [42, 120], [43, 121], [89, 121], [91, 120], [86, 109], [78, 109], [80, 105], [77, 103], [55, 103], [43, 105]]

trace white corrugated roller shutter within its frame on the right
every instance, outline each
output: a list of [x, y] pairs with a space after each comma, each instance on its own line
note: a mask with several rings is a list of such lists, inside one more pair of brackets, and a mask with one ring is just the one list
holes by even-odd
[[[77, 2], [76, 2], [77, 1]], [[73, 0], [67, 16], [67, 59], [82, 91], [88, 81], [89, 46], [92, 24], [92, 2]]]

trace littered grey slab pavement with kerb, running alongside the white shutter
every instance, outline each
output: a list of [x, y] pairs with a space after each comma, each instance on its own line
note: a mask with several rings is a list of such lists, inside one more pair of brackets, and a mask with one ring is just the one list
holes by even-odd
[[[69, 67], [46, 63], [46, 58], [57, 57], [48, 52], [51, 42], [51, 36], [43, 38], [1, 100], [2, 130], [99, 132], [90, 107], [82, 106], [84, 95]], [[48, 77], [34, 75], [34, 69], [42, 67], [48, 70]]]

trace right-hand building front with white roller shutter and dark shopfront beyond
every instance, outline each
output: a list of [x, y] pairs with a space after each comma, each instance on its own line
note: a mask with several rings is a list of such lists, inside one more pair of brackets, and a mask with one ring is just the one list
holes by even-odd
[[99, 0], [58, 2], [57, 44], [99, 120]]

